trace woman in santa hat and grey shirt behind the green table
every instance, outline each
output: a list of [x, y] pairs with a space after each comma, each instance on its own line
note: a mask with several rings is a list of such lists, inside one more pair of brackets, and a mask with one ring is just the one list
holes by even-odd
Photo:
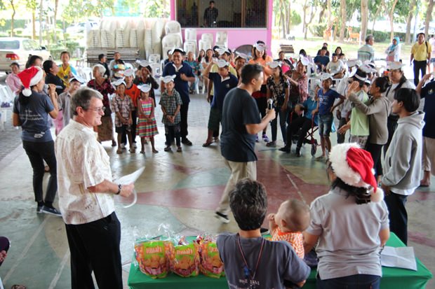
[[312, 202], [304, 232], [305, 252], [319, 241], [316, 288], [378, 289], [389, 220], [372, 157], [356, 143], [342, 143], [331, 149], [327, 166], [330, 191]]

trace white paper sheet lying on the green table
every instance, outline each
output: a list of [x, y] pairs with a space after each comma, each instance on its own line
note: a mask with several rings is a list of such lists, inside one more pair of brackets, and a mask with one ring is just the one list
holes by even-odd
[[381, 265], [384, 267], [397, 267], [417, 271], [414, 248], [385, 246], [381, 252]]

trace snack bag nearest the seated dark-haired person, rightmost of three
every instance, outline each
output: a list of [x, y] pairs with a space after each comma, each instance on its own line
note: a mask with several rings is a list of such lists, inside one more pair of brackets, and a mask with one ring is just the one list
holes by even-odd
[[220, 260], [216, 243], [213, 241], [203, 241], [200, 246], [201, 264], [199, 265], [199, 269], [201, 273], [213, 278], [225, 276], [224, 264]]

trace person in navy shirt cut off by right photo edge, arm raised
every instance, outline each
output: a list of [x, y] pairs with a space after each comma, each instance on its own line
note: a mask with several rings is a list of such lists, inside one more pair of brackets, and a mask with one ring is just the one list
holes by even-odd
[[[435, 81], [424, 85], [431, 78], [428, 73], [423, 76], [415, 89], [424, 99], [424, 127], [423, 127], [423, 179], [420, 181], [421, 187], [429, 187], [431, 184], [431, 174], [435, 176]], [[422, 87], [424, 85], [424, 87]]]

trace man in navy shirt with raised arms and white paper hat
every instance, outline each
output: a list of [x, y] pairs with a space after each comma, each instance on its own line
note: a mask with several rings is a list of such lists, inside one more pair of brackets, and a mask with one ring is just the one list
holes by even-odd
[[[217, 64], [219, 72], [210, 72], [213, 64]], [[213, 132], [219, 131], [219, 124], [222, 120], [222, 106], [224, 99], [229, 90], [232, 90], [237, 86], [239, 80], [236, 76], [229, 73], [229, 63], [225, 59], [219, 59], [219, 61], [211, 61], [210, 64], [203, 71], [202, 75], [211, 81], [213, 81], [214, 97], [211, 101], [210, 116], [208, 117], [208, 136], [203, 147], [210, 146], [213, 143]], [[207, 98], [210, 101], [209, 98]]]

